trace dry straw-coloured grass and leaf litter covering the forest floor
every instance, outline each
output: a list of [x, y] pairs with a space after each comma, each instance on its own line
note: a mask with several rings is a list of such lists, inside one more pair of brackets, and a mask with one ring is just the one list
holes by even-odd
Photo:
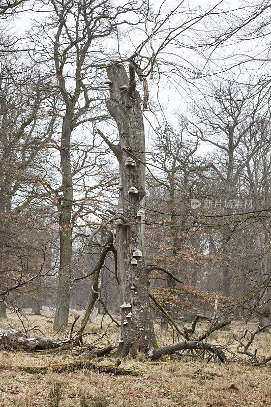
[[[78, 311], [74, 311], [74, 313]], [[46, 316], [31, 315], [28, 310], [28, 322], [38, 324], [39, 328], [50, 335], [52, 330], [52, 313], [43, 310]], [[71, 322], [74, 318], [71, 315]], [[99, 323], [99, 324], [98, 324]], [[89, 338], [102, 337], [104, 344], [117, 338], [116, 328], [105, 319], [101, 328], [101, 318], [96, 325], [89, 324]], [[12, 325], [21, 329], [17, 316], [8, 315], [0, 321], [1, 328]], [[24, 321], [24, 325], [26, 322]], [[237, 331], [237, 327], [235, 328]], [[107, 332], [106, 335], [105, 332]], [[29, 332], [29, 336], [41, 335], [39, 331]], [[103, 336], [104, 335], [104, 336]], [[170, 332], [161, 333], [157, 327], [157, 339], [161, 344], [172, 343]], [[229, 332], [216, 332], [209, 342], [229, 342]], [[261, 334], [255, 343], [258, 354], [270, 354], [271, 335]], [[234, 344], [231, 344], [232, 350]], [[114, 376], [89, 370], [76, 372], [32, 374], [18, 370], [18, 366], [41, 366], [73, 360], [69, 353], [27, 354], [21, 351], [0, 351], [2, 364], [10, 368], [0, 371], [0, 406], [1, 407], [47, 407], [52, 397], [52, 389], [58, 383], [62, 399], [60, 407], [79, 407], [81, 397], [88, 400], [103, 400], [100, 405], [108, 407], [249, 407], [271, 406], [271, 365], [261, 368], [249, 364], [209, 361], [198, 358], [183, 358], [162, 362], [144, 362], [141, 355], [137, 360], [122, 360], [122, 367], [142, 369], [139, 376]], [[110, 361], [112, 362], [112, 361]], [[107, 362], [108, 363], [108, 362]], [[15, 400], [15, 401], [14, 401]], [[94, 405], [94, 404], [89, 404]]]

